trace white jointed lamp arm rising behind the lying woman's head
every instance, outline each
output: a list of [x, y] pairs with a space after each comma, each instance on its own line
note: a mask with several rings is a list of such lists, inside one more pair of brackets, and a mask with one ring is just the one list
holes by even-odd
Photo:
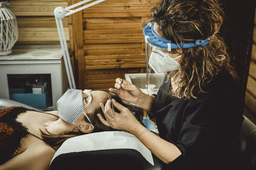
[[[76, 4], [72, 4], [72, 5], [68, 6], [67, 8], [63, 8], [63, 7], [59, 6], [59, 7], [55, 8], [55, 10], [54, 10], [54, 16], [55, 16], [55, 20], [56, 20], [56, 24], [57, 24], [61, 50], [63, 53], [63, 58], [64, 58], [65, 67], [66, 67], [66, 71], [67, 71], [68, 85], [69, 85], [70, 89], [76, 89], [76, 83], [74, 80], [74, 74], [72, 71], [70, 56], [68, 53], [67, 40], [65, 37], [64, 29], [63, 29], [62, 18], [65, 18], [68, 15], [72, 15], [73, 13], [76, 13], [78, 11], [84, 10], [85, 8], [89, 8], [90, 6], [93, 6], [95, 4], [99, 4], [105, 0], [97, 0], [97, 1], [93, 1], [91, 3], [88, 3], [90, 1], [92, 1], [92, 0], [84, 0], [84, 1], [81, 1]], [[77, 6], [80, 6], [85, 3], [88, 3], [88, 4], [81, 6], [80, 8], [77, 8], [76, 10], [72, 10], [72, 9], [76, 8]]]

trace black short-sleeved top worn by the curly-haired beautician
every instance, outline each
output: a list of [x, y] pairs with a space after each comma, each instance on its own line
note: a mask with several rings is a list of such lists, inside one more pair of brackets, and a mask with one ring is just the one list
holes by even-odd
[[159, 136], [182, 155], [166, 169], [239, 169], [239, 132], [243, 122], [240, 92], [228, 73], [220, 73], [205, 90], [182, 101], [168, 95], [164, 81], [154, 102]]

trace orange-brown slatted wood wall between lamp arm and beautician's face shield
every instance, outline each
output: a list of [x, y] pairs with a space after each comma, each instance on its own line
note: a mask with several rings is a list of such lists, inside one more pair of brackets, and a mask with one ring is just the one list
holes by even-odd
[[157, 2], [107, 0], [83, 10], [80, 89], [108, 90], [125, 73], [145, 73], [143, 24]]

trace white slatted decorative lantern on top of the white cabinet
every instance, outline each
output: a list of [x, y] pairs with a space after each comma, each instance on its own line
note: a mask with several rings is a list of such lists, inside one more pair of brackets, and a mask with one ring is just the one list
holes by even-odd
[[12, 47], [18, 36], [17, 20], [10, 10], [9, 3], [0, 2], [0, 55], [12, 53]]

